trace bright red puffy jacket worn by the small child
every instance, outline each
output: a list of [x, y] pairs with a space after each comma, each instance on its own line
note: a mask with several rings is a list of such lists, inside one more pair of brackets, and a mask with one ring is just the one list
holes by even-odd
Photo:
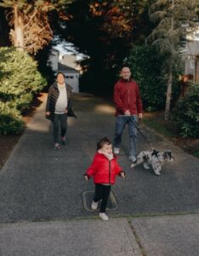
[[122, 168], [117, 164], [117, 158], [115, 156], [112, 160], [108, 160], [104, 154], [97, 152], [86, 174], [88, 177], [94, 177], [94, 183], [115, 184], [115, 179], [120, 172], [122, 172]]

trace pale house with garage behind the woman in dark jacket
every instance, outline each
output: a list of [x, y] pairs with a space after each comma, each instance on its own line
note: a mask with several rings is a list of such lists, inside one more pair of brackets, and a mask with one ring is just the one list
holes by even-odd
[[59, 73], [59, 72], [64, 73], [65, 83], [71, 85], [73, 92], [79, 92], [80, 71], [76, 63], [77, 58], [75, 55], [63, 55], [63, 56], [60, 58], [59, 50], [51, 49], [51, 54], [49, 55], [49, 58], [48, 58], [48, 65], [52, 67], [54, 73]]

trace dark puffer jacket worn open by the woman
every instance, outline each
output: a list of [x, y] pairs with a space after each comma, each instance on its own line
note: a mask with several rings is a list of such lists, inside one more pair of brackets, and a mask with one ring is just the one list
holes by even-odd
[[[77, 118], [76, 114], [72, 110], [71, 86], [69, 84], [65, 84], [65, 89], [68, 97], [68, 106], [66, 108], [68, 110], [67, 114], [68, 116]], [[50, 119], [52, 122], [54, 121], [54, 108], [59, 96], [60, 96], [60, 91], [58, 89], [57, 83], [55, 82], [50, 86], [48, 90], [48, 98], [47, 98], [47, 104], [46, 104], [46, 112], [50, 112], [50, 115], [46, 116], [46, 118]]]

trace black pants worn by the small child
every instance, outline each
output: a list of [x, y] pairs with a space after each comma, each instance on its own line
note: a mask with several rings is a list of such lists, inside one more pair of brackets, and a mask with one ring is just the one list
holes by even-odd
[[100, 212], [105, 212], [105, 208], [107, 206], [110, 191], [111, 191], [111, 185], [105, 186], [105, 185], [102, 185], [102, 184], [95, 184], [94, 201], [97, 202], [99, 200], [102, 200], [101, 201]]

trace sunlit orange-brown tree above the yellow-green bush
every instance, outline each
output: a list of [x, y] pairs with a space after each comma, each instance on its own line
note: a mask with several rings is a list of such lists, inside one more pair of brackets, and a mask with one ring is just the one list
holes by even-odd
[[7, 19], [11, 30], [9, 32], [14, 47], [36, 54], [53, 38], [49, 25], [48, 14], [53, 9], [64, 18], [61, 5], [71, 3], [70, 0], [3, 0], [0, 6], [7, 9]]

